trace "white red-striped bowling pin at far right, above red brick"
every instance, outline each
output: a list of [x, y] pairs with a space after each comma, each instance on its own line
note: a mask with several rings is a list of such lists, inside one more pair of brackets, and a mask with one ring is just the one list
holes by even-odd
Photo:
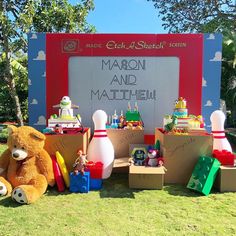
[[232, 152], [230, 143], [225, 137], [225, 114], [220, 110], [216, 110], [211, 114], [210, 120], [213, 134], [213, 150], [227, 150]]

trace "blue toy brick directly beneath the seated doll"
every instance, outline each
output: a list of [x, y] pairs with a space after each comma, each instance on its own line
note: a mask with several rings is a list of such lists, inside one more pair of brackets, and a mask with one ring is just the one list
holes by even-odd
[[70, 173], [70, 192], [72, 193], [88, 193], [90, 185], [90, 173], [84, 172], [84, 175], [79, 173], [74, 175]]

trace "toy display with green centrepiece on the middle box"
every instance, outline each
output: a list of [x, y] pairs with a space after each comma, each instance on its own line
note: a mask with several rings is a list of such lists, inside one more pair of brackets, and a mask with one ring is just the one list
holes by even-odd
[[142, 121], [141, 115], [138, 110], [138, 104], [135, 103], [134, 110], [132, 111], [130, 103], [128, 103], [128, 109], [123, 114], [121, 111], [120, 116], [116, 114], [116, 110], [112, 116], [108, 117], [106, 123], [107, 129], [137, 129], [141, 130], [144, 128], [144, 123]]

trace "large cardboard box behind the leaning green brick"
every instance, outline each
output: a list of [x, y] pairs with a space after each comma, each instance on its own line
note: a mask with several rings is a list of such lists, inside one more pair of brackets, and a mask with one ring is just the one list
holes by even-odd
[[210, 156], [213, 148], [212, 136], [208, 134], [172, 135], [156, 129], [157, 140], [167, 169], [165, 183], [187, 184], [198, 158]]

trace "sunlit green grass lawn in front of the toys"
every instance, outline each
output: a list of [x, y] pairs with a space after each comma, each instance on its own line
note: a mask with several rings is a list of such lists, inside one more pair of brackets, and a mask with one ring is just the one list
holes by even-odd
[[235, 199], [175, 185], [132, 190], [128, 175], [113, 174], [88, 194], [53, 188], [32, 205], [0, 198], [0, 235], [236, 235]]

